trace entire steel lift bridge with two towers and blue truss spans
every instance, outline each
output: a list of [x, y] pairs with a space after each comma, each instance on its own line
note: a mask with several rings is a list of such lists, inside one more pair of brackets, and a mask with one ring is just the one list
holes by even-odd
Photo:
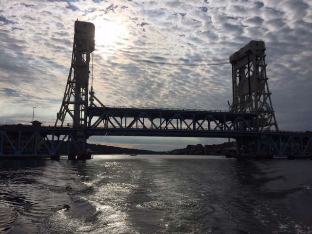
[[[268, 86], [265, 44], [252, 40], [230, 56], [233, 103], [229, 111], [105, 106], [89, 90], [95, 26], [76, 21], [72, 62], [54, 126], [0, 126], [0, 157], [91, 158], [91, 136], [222, 137], [236, 140], [235, 156], [311, 157], [311, 132], [278, 129]], [[72, 123], [65, 123], [65, 117]]]

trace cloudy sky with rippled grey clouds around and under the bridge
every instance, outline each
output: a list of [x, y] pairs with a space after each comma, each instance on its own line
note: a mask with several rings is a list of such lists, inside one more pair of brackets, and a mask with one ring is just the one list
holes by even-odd
[[[74, 21], [96, 26], [93, 87], [104, 105], [228, 110], [229, 56], [266, 44], [280, 130], [312, 130], [311, 0], [0, 0], [0, 124], [54, 124]], [[152, 61], [152, 62], [146, 62]], [[151, 150], [225, 141], [100, 137]]]

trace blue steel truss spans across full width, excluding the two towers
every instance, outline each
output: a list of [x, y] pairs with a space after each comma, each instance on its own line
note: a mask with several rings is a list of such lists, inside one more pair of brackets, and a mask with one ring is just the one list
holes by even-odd
[[[105, 109], [105, 110], [104, 110]], [[311, 132], [254, 131], [254, 115], [228, 112], [135, 108], [92, 109], [101, 113], [86, 129], [0, 126], [0, 157], [77, 155], [89, 136], [231, 137], [237, 156], [312, 156]], [[125, 116], [127, 113], [127, 121]], [[236, 113], [237, 114], [237, 113]]]

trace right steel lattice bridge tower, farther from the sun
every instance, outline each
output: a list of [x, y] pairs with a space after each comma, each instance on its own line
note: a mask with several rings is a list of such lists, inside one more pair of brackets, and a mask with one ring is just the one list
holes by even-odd
[[230, 56], [233, 81], [231, 111], [255, 113], [257, 131], [278, 132], [268, 85], [265, 50], [264, 41], [252, 40]]

